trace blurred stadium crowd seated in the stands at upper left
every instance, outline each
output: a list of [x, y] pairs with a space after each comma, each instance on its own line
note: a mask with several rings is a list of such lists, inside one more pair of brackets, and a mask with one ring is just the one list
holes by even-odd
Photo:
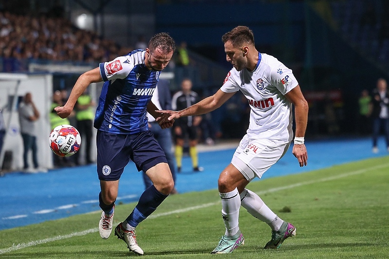
[[0, 12], [0, 50], [7, 58], [102, 62], [131, 51], [62, 17]]

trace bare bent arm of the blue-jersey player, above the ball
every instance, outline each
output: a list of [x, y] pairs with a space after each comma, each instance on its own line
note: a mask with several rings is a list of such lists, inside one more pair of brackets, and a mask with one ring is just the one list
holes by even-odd
[[89, 70], [80, 75], [80, 77], [77, 79], [77, 82], [73, 86], [73, 89], [71, 90], [71, 94], [66, 104], [64, 106], [58, 106], [54, 108], [58, 116], [62, 119], [67, 118], [73, 111], [78, 97], [81, 96], [85, 89], [87, 89], [91, 83], [98, 83], [102, 81], [103, 78], [101, 77], [99, 68]]

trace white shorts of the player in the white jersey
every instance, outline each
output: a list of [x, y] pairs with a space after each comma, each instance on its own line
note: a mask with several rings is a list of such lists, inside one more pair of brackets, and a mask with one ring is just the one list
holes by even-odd
[[265, 138], [242, 138], [236, 149], [231, 164], [235, 166], [248, 181], [261, 178], [267, 169], [285, 155], [291, 141], [279, 141]]

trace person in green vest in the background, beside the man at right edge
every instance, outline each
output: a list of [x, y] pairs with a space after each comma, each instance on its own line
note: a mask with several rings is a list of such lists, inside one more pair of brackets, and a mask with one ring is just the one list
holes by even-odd
[[363, 89], [361, 92], [361, 96], [358, 99], [359, 104], [359, 133], [362, 135], [371, 133], [371, 96], [369, 95], [369, 91]]

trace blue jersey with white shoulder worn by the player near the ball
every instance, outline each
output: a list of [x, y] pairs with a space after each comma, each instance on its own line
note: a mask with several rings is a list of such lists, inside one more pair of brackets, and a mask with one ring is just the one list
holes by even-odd
[[114, 134], [148, 130], [146, 106], [159, 79], [159, 71], [144, 64], [143, 50], [135, 50], [111, 62], [100, 63], [104, 80], [94, 127]]

